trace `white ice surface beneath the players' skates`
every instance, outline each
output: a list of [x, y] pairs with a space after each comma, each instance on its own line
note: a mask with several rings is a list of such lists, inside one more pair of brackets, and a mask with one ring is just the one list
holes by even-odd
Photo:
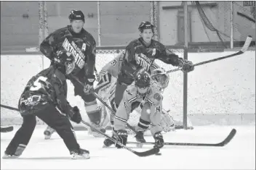
[[[13, 132], [1, 133], [1, 157], [19, 126]], [[236, 136], [225, 147], [165, 146], [161, 156], [140, 158], [125, 149], [102, 148], [103, 138], [76, 131], [81, 145], [90, 151], [91, 158], [71, 160], [63, 140], [55, 133], [44, 140], [45, 125], [37, 126], [28, 147], [17, 159], [2, 159], [1, 169], [255, 169], [255, 126], [204, 126], [193, 130], [179, 129], [164, 134], [166, 142], [219, 143], [232, 128]], [[135, 141], [130, 135], [129, 141]], [[145, 137], [148, 142], [151, 136]], [[148, 150], [151, 145], [135, 148]]]

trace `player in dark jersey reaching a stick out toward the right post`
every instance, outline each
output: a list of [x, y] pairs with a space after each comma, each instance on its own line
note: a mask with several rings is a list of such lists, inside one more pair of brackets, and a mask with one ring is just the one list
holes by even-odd
[[193, 63], [178, 57], [169, 51], [159, 41], [154, 41], [153, 25], [151, 22], [141, 22], [138, 28], [140, 30], [140, 38], [129, 43], [126, 48], [124, 59], [121, 64], [121, 70], [116, 83], [115, 103], [119, 106], [124, 90], [134, 81], [137, 70], [145, 68], [149, 72], [149, 68], [155, 59], [159, 59], [166, 64], [172, 64], [181, 67], [183, 72], [193, 71]]

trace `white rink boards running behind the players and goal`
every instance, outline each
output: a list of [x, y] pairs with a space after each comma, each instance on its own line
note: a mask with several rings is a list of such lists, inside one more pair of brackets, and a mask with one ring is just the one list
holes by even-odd
[[[188, 59], [197, 63], [220, 56], [233, 54], [191, 53]], [[105, 59], [113, 59], [114, 54], [105, 54]], [[96, 60], [100, 72], [100, 59]], [[41, 55], [1, 55], [1, 104], [17, 107], [20, 94], [26, 83], [42, 68]], [[44, 57], [44, 68], [49, 59]], [[170, 74], [170, 84], [164, 93], [164, 109], [172, 114], [182, 115], [183, 73]], [[84, 103], [79, 96], [73, 96], [73, 85], [68, 81], [68, 101], [79, 106], [85, 113]], [[255, 114], [255, 51], [247, 51], [240, 56], [216, 61], [196, 67], [188, 73], [188, 114]], [[84, 114], [84, 119], [87, 115]], [[21, 119], [17, 111], [1, 108], [1, 124], [12, 124], [5, 119]], [[193, 122], [192, 122], [193, 123]]]

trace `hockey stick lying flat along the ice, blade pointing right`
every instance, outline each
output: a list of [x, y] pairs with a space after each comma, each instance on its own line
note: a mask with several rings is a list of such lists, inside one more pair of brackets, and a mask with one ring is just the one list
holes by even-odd
[[[232, 129], [229, 133], [228, 137], [225, 138], [221, 143], [164, 143], [164, 145], [179, 145], [179, 146], [217, 146], [223, 147], [227, 145], [233, 137], [236, 135], [236, 129]], [[143, 145], [154, 145], [155, 143], [135, 143], [135, 142], [127, 142], [127, 144], [143, 144]]]

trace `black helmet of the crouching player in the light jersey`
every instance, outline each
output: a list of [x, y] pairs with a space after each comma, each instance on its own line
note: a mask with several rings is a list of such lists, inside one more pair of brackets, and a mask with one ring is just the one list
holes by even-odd
[[138, 88], [148, 88], [151, 84], [151, 76], [145, 69], [140, 69], [135, 75], [135, 85]]

